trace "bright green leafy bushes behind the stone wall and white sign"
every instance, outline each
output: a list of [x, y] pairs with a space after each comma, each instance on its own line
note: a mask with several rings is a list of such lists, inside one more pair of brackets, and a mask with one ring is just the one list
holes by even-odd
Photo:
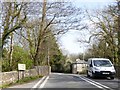
[[14, 51], [13, 51], [13, 59], [11, 62], [11, 66], [9, 67], [9, 59], [7, 58], [7, 52], [4, 49], [3, 52], [3, 63], [2, 63], [2, 71], [12, 71], [12, 70], [17, 70], [18, 68], [18, 63], [26, 64], [27, 69], [30, 69], [32, 67], [32, 60], [29, 57], [29, 54], [27, 51], [25, 51], [22, 47], [20, 46], [14, 46]]

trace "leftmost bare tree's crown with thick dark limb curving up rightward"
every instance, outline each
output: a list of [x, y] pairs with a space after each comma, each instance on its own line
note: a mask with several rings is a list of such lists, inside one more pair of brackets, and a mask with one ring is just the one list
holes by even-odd
[[22, 27], [26, 22], [26, 15], [23, 11], [23, 3], [4, 2], [2, 3], [2, 46], [10, 33]]

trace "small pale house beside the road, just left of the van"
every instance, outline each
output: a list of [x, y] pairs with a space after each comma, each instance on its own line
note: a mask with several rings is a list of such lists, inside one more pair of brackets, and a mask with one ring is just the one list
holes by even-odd
[[87, 69], [87, 62], [84, 60], [76, 59], [75, 62], [72, 63], [72, 73], [85, 73]]

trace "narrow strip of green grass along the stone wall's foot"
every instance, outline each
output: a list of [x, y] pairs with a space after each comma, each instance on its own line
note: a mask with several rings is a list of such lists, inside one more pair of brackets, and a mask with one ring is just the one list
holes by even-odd
[[19, 84], [24, 84], [24, 83], [28, 83], [28, 82], [31, 82], [31, 81], [34, 81], [38, 78], [42, 78], [43, 76], [41, 75], [38, 75], [38, 76], [30, 76], [30, 77], [24, 77], [20, 80], [17, 80], [13, 83], [10, 83], [10, 84], [4, 84], [2, 86], [0, 86], [0, 88], [7, 88], [7, 87], [10, 87], [10, 86], [13, 86], [13, 85], [19, 85]]

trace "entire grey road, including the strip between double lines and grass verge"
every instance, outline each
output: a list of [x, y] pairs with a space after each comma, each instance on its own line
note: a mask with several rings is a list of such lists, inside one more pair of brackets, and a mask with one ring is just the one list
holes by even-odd
[[40, 79], [10, 88], [12, 88], [11, 90], [16, 90], [16, 88], [22, 88], [21, 90], [120, 90], [120, 82], [117, 79], [91, 79], [87, 78], [85, 75], [77, 74], [51, 73], [49, 77], [43, 78], [42, 83], [41, 81]]

